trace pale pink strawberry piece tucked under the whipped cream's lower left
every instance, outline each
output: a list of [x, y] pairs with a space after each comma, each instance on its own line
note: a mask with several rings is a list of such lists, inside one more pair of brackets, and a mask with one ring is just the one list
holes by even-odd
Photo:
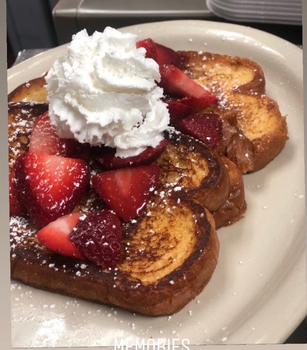
[[48, 111], [36, 118], [32, 129], [29, 153], [86, 159], [89, 156], [89, 151], [89, 144], [60, 138], [55, 127], [50, 123]]

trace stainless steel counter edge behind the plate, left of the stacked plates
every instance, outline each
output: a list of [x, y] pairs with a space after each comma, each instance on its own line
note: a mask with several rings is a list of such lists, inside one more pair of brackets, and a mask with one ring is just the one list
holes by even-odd
[[172, 19], [216, 18], [206, 0], [60, 0], [52, 16], [59, 44], [86, 28], [89, 34], [113, 28]]

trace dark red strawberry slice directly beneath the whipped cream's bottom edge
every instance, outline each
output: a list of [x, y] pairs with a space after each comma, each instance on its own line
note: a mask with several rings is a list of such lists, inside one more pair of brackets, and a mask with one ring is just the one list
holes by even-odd
[[128, 166], [147, 165], [158, 159], [167, 147], [168, 141], [163, 139], [156, 147], [147, 147], [137, 156], [120, 158], [115, 157], [116, 149], [101, 147], [101, 154], [96, 157], [97, 161], [106, 170], [125, 168]]

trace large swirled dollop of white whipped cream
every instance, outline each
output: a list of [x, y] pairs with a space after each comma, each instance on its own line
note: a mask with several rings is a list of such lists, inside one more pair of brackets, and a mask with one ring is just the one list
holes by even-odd
[[73, 35], [46, 76], [49, 115], [61, 138], [116, 147], [129, 157], [155, 147], [168, 128], [158, 64], [136, 48], [137, 35], [111, 27]]

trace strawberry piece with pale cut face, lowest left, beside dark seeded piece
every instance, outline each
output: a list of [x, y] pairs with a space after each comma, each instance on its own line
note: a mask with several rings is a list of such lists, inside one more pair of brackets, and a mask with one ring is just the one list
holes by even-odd
[[37, 232], [38, 241], [48, 249], [62, 255], [85, 259], [69, 239], [70, 232], [76, 227], [81, 216], [82, 214], [73, 212], [52, 221]]

